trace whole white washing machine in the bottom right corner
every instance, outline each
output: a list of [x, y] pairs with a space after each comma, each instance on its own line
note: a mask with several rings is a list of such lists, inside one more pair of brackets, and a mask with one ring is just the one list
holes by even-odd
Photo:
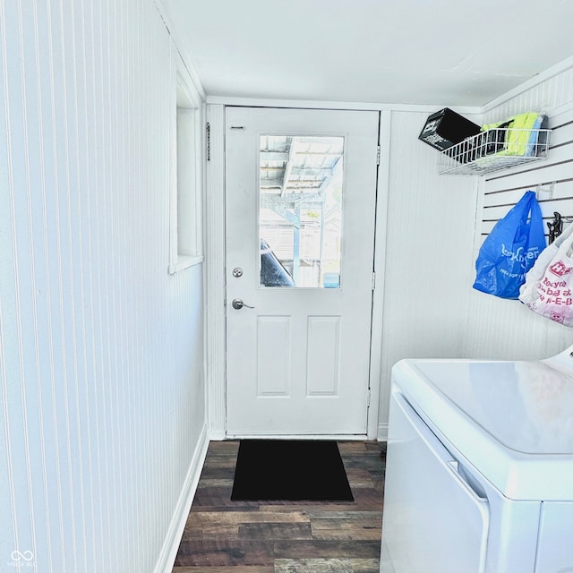
[[572, 353], [394, 366], [382, 573], [573, 573]]

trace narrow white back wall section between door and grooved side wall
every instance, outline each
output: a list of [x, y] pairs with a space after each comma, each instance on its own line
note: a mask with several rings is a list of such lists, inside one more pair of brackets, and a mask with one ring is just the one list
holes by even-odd
[[427, 116], [391, 115], [381, 438], [392, 365], [402, 358], [457, 357], [466, 332], [466, 260], [474, 242], [478, 185], [475, 177], [438, 175], [438, 151], [418, 140]]

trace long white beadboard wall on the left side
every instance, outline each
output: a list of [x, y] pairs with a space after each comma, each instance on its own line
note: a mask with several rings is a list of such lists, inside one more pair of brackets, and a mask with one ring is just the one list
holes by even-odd
[[175, 557], [207, 433], [171, 49], [151, 0], [0, 2], [1, 571]]

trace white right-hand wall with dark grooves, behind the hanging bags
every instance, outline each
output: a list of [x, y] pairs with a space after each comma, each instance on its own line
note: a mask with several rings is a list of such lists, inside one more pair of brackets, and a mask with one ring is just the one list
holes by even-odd
[[[530, 90], [492, 107], [490, 123], [526, 111], [549, 115], [551, 146], [546, 160], [483, 177], [483, 208], [477, 212], [473, 259], [495, 222], [527, 190], [554, 184], [552, 195], [539, 192], [545, 222], [553, 211], [573, 216], [573, 70], [554, 75]], [[545, 227], [547, 230], [547, 227]], [[472, 291], [463, 355], [500, 359], [531, 359], [556, 354], [573, 344], [573, 329], [548, 321], [518, 301]]]

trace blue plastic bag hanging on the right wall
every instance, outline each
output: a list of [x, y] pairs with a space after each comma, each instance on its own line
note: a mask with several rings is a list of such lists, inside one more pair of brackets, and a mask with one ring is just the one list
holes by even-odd
[[474, 288], [517, 299], [526, 272], [545, 246], [541, 210], [535, 192], [528, 191], [483, 241], [475, 261]]

